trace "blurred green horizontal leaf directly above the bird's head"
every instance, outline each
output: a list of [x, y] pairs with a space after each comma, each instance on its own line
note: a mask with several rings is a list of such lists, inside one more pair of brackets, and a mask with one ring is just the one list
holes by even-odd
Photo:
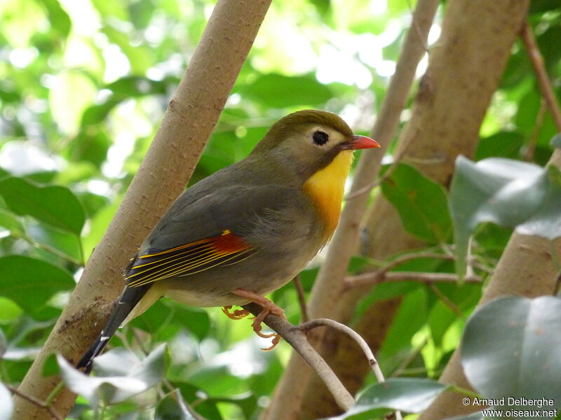
[[259, 76], [254, 83], [238, 87], [238, 91], [271, 108], [320, 105], [333, 96], [330, 87], [312, 76], [282, 76], [276, 73]]

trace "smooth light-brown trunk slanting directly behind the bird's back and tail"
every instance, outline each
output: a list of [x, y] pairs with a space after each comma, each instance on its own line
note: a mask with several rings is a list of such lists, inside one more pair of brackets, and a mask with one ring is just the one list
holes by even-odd
[[[221, 0], [194, 52], [163, 122], [121, 206], [95, 248], [72, 297], [19, 390], [45, 400], [60, 381], [43, 377], [50, 353], [74, 362], [93, 342], [121, 293], [121, 272], [137, 246], [189, 180], [255, 40], [271, 0]], [[53, 407], [65, 416], [75, 395], [63, 390]], [[15, 420], [50, 419], [15, 397]]]

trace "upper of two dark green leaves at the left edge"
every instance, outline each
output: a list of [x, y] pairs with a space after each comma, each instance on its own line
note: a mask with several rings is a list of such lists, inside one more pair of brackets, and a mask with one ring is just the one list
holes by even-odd
[[19, 215], [80, 235], [86, 219], [82, 205], [65, 187], [37, 186], [21, 178], [0, 180], [0, 195], [8, 207]]

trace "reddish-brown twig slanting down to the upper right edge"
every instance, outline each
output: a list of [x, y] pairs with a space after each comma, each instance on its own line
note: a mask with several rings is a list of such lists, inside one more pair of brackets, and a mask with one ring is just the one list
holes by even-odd
[[557, 131], [561, 132], [561, 110], [555, 97], [555, 91], [551, 86], [546, 66], [543, 65], [543, 57], [541, 56], [541, 52], [539, 52], [536, 38], [534, 37], [532, 28], [528, 25], [528, 22], [524, 22], [524, 25], [522, 25], [520, 36], [524, 42], [532, 67], [534, 67], [534, 71], [536, 72], [536, 78], [541, 94], [543, 95], [543, 99], [546, 100], [548, 109], [553, 116], [553, 121], [555, 121]]

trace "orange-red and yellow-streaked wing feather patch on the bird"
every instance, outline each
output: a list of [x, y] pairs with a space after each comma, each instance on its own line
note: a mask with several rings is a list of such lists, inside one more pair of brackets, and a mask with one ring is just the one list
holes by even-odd
[[255, 248], [229, 230], [219, 237], [140, 255], [125, 275], [129, 287], [143, 286], [175, 276], [189, 276], [218, 265], [232, 265], [249, 258]]

